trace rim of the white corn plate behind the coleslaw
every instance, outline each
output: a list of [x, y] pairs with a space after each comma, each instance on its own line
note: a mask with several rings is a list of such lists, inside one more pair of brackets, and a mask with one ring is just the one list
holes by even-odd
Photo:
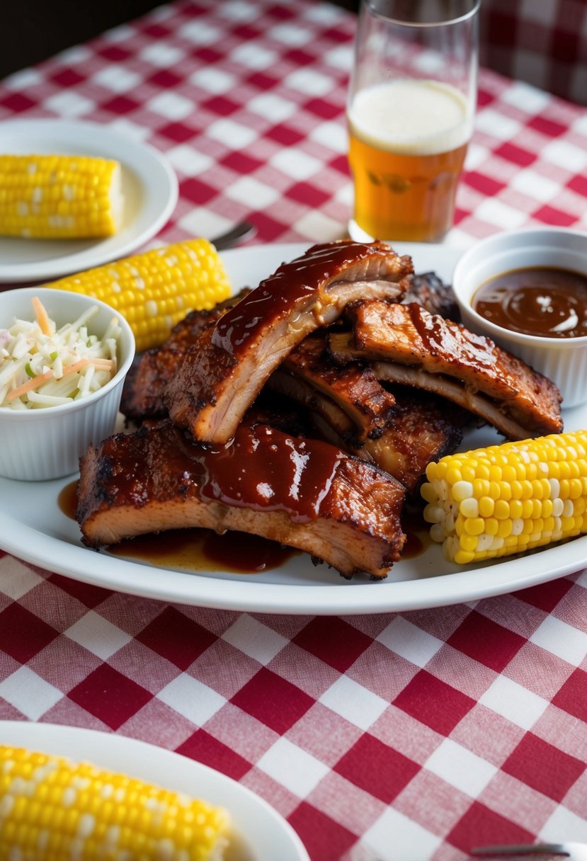
[[[118, 129], [112, 127], [112, 123], [96, 123], [91, 121], [75, 121], [59, 119], [58, 117], [31, 117], [28, 119], [15, 119], [4, 121], [0, 124], [0, 152], [3, 150], [3, 138], [10, 134], [25, 134], [42, 136], [43, 133], [57, 133], [59, 138], [64, 139], [64, 149], [71, 150], [71, 146], [65, 144], [65, 139], [72, 139], [75, 146], [76, 139], [88, 139], [93, 141], [104, 140], [106, 145], [113, 146], [119, 156], [127, 152], [138, 152], [141, 161], [145, 161], [146, 166], [138, 172], [135, 166], [131, 168], [134, 176], [141, 183], [144, 189], [149, 189], [152, 184], [152, 177], [156, 177], [156, 182], [161, 183], [158, 195], [161, 197], [161, 203], [158, 205], [157, 214], [151, 217], [140, 232], [135, 236], [125, 239], [124, 232], [128, 226], [123, 228], [118, 234], [113, 237], [97, 238], [96, 244], [89, 248], [84, 248], [81, 251], [74, 251], [65, 254], [63, 257], [51, 257], [47, 261], [35, 260], [33, 263], [2, 263], [0, 262], [0, 283], [22, 283], [34, 281], [46, 281], [60, 276], [72, 275], [83, 269], [93, 269], [96, 266], [101, 266], [104, 263], [110, 263], [120, 257], [127, 257], [140, 245], [145, 245], [151, 238], [157, 235], [161, 228], [170, 219], [174, 212], [179, 197], [179, 182], [175, 170], [170, 164], [169, 159], [164, 152], [158, 150], [155, 146], [145, 143], [143, 140], [133, 138], [130, 135], [125, 135]], [[34, 146], [31, 148], [34, 151]], [[109, 158], [117, 158], [115, 155], [108, 156]], [[120, 158], [119, 158], [120, 160]], [[153, 200], [156, 198], [153, 197]], [[131, 225], [135, 224], [140, 218], [138, 213]], [[122, 242], [120, 242], [120, 237]], [[7, 240], [17, 240], [18, 237], [1, 237]], [[23, 240], [24, 241], [24, 240]], [[41, 240], [32, 240], [38, 241]], [[46, 239], [44, 242], [59, 242], [60, 240]], [[72, 241], [72, 240], [70, 240]], [[87, 241], [87, 240], [84, 240]]]

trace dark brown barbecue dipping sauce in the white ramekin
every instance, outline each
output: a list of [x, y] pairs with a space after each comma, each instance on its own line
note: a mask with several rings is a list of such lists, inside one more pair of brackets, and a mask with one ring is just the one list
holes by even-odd
[[512, 269], [482, 284], [473, 308], [495, 325], [524, 335], [587, 335], [587, 276], [571, 269]]

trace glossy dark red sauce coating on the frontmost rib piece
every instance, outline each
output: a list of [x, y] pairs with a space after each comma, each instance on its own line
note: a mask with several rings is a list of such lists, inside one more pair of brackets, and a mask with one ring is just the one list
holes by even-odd
[[[149, 449], [145, 469], [141, 429], [129, 437], [120, 462], [121, 435], [102, 443], [101, 465], [107, 504], [142, 507], [157, 499], [200, 499], [253, 511], [285, 511], [294, 523], [319, 516], [320, 505], [331, 489], [338, 463], [346, 456], [320, 440], [289, 437], [269, 425], [241, 424], [226, 444], [197, 443], [168, 424], [155, 431], [157, 444]], [[100, 486], [100, 476], [97, 480]], [[90, 505], [93, 499], [89, 499]], [[78, 519], [87, 511], [80, 504]]]

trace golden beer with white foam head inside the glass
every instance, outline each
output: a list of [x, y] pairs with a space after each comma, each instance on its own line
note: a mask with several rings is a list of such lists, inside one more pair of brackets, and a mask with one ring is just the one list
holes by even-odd
[[355, 223], [372, 238], [435, 242], [453, 224], [471, 121], [458, 90], [399, 79], [349, 108]]

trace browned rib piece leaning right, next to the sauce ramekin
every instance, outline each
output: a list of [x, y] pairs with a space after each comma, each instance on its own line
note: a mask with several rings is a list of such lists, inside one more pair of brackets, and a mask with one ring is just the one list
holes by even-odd
[[510, 439], [562, 431], [559, 389], [490, 338], [413, 302], [360, 301], [348, 313], [353, 331], [329, 336], [336, 362], [369, 361], [380, 380], [440, 394]]

